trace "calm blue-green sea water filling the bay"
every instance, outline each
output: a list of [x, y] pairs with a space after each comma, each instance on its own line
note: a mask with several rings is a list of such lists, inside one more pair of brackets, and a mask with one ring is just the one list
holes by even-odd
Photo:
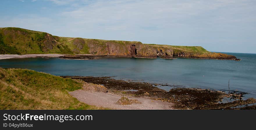
[[[2, 59], [2, 68], [27, 68], [53, 75], [115, 76], [156, 84], [191, 88], [230, 90], [256, 98], [256, 54], [227, 53], [241, 61], [214, 59], [102, 58], [73, 60], [60, 58]], [[160, 86], [162, 89], [166, 89]]]

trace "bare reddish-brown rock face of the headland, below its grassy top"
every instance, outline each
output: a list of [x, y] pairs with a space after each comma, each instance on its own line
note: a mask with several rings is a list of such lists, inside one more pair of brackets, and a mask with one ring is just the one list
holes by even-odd
[[[109, 55], [120, 57], [137, 57], [137, 58], [203, 58], [203, 59], [236, 59], [235, 56], [211, 53], [208, 51], [193, 51], [171, 48], [171, 46], [151, 46], [148, 44], [142, 44], [136, 41], [97, 41], [97, 40], [85, 40], [88, 41], [89, 52], [93, 55]], [[195, 47], [202, 48], [202, 47]]]

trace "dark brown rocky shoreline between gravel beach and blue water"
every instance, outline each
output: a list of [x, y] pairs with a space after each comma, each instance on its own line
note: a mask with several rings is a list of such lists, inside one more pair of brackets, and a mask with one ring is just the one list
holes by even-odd
[[[173, 109], [256, 109], [256, 100], [254, 98], [243, 100], [245, 93], [240, 92], [225, 93], [209, 89], [179, 88], [175, 86], [170, 91], [165, 91], [156, 87], [159, 84], [115, 80], [111, 77], [61, 77], [100, 84], [106, 87], [108, 92], [119, 96], [169, 102], [173, 104]], [[223, 98], [229, 98], [230, 102], [222, 103]]]

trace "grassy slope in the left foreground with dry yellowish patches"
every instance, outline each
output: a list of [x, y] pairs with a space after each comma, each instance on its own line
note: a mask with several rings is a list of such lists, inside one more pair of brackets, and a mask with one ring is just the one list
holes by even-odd
[[27, 69], [0, 68], [0, 109], [102, 109], [68, 94], [81, 83]]

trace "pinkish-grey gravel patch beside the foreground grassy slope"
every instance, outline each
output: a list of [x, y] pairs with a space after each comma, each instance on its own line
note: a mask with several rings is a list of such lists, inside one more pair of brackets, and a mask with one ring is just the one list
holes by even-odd
[[131, 104], [131, 105], [118, 105], [115, 104], [121, 96], [113, 95], [112, 93], [102, 93], [102, 92], [88, 92], [85, 90], [76, 90], [69, 92], [70, 95], [77, 98], [80, 102], [84, 102], [89, 105], [102, 106], [111, 109], [173, 109], [173, 104], [170, 102], [162, 102], [159, 100], [151, 100], [148, 98], [130, 98], [136, 99], [141, 104]]

